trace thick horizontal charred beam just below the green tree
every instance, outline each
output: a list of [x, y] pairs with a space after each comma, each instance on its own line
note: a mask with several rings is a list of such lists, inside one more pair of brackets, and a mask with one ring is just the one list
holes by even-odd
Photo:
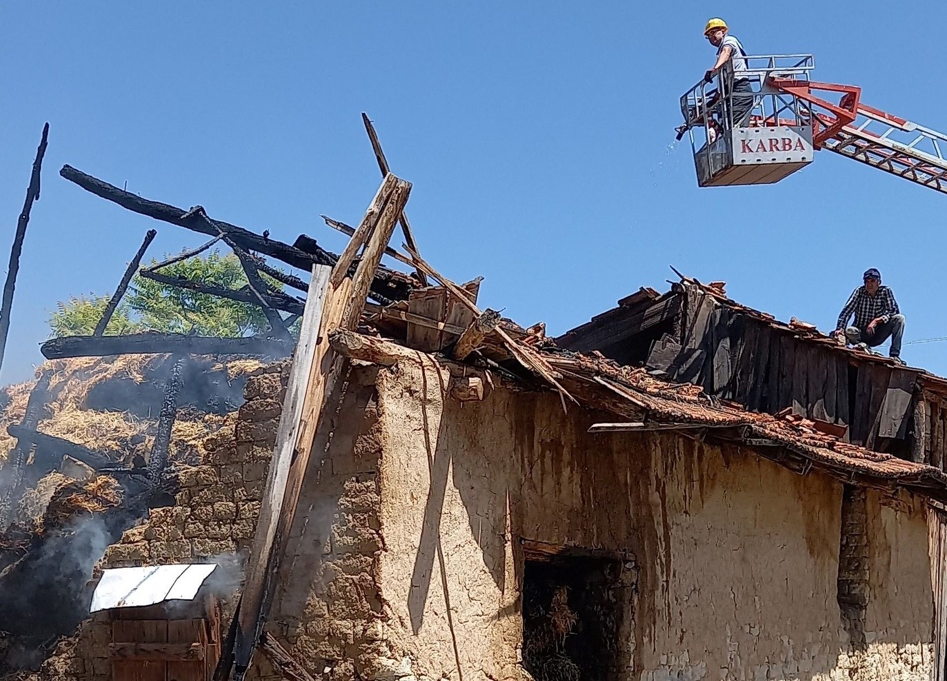
[[40, 346], [46, 359], [106, 357], [143, 353], [188, 353], [189, 355], [252, 355], [284, 358], [293, 344], [260, 338], [216, 338], [183, 334], [143, 333], [129, 336], [67, 336], [46, 340]]

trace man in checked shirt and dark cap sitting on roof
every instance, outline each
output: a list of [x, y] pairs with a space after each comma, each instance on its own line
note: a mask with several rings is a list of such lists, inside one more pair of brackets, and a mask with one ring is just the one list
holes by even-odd
[[[851, 293], [849, 302], [842, 308], [835, 326], [835, 339], [844, 345], [846, 341], [861, 349], [881, 345], [891, 338], [888, 356], [898, 364], [901, 360], [901, 340], [904, 336], [904, 315], [890, 288], [882, 286], [882, 273], [871, 268], [862, 275], [865, 286]], [[852, 312], [855, 323], [846, 327]], [[845, 329], [843, 331], [843, 329]]]

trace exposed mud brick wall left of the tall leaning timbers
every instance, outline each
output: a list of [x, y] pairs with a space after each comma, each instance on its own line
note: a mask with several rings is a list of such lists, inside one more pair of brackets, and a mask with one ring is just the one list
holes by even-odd
[[[273, 364], [247, 380], [245, 403], [220, 431], [205, 441], [207, 453], [202, 465], [177, 469], [179, 491], [174, 505], [152, 509], [147, 521], [122, 534], [106, 550], [96, 567], [95, 578], [103, 568], [216, 559], [230, 573], [220, 575], [224, 587], [228, 581], [233, 584], [229, 592], [219, 595], [223, 621], [229, 621], [241, 577], [235, 567], [245, 565], [256, 530], [288, 368], [285, 362]], [[31, 681], [110, 681], [111, 631], [109, 612], [85, 620], [75, 636], [60, 643]], [[260, 672], [271, 673], [265, 661], [259, 665]]]

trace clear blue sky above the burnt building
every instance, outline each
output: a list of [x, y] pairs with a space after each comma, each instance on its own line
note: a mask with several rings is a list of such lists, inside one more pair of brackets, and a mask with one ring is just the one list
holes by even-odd
[[[877, 267], [906, 340], [947, 336], [947, 197], [828, 151], [772, 186], [698, 189], [689, 148], [673, 144], [678, 98], [713, 60], [710, 15], [750, 53], [812, 52], [813, 78], [861, 85], [867, 104], [947, 129], [935, 87], [947, 7], [913, 3], [879, 26], [889, 5], [877, 0], [777, 15], [639, 5], [4, 4], [3, 253], [46, 120], [50, 135], [0, 379], [31, 374], [49, 310], [110, 293], [149, 228], [152, 255], [201, 242], [81, 191], [59, 177], [63, 164], [339, 250], [344, 237], [319, 214], [356, 222], [380, 182], [363, 111], [414, 183], [421, 253], [457, 281], [483, 275], [481, 302], [520, 323], [557, 335], [640, 286], [667, 288], [674, 265], [825, 329]], [[919, 343], [903, 356], [944, 375], [945, 350]]]

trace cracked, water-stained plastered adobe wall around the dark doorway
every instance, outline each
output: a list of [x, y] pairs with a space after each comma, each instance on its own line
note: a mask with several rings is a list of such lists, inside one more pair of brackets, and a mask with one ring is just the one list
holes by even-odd
[[600, 418], [565, 416], [547, 393], [499, 389], [461, 404], [445, 397], [449, 382], [430, 364], [378, 377], [384, 550], [373, 588], [390, 656], [410, 656], [414, 674], [521, 673], [523, 537], [634, 556], [628, 678], [928, 677], [920, 501], [896, 510], [867, 494], [866, 644], [849, 653], [841, 484], [673, 434], [590, 435]]

